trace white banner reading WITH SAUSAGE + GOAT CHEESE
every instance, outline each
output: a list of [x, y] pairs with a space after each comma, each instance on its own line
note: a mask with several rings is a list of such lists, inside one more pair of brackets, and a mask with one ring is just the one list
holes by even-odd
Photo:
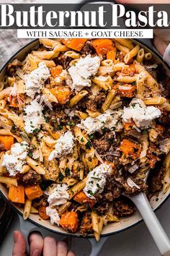
[[17, 30], [17, 38], [153, 38], [153, 30], [59, 29]]

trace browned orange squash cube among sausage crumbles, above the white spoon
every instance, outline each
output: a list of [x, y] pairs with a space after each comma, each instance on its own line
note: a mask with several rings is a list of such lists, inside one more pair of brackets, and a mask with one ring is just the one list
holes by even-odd
[[120, 143], [120, 150], [125, 155], [125, 157], [136, 159], [140, 155], [141, 146], [131, 142], [130, 140], [123, 139]]

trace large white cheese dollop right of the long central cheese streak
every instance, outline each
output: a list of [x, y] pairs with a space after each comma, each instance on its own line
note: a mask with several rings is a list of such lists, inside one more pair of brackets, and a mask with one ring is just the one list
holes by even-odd
[[128, 108], [124, 107], [122, 119], [129, 121], [133, 119], [137, 127], [150, 127], [153, 119], [161, 116], [161, 111], [154, 106], [146, 106], [145, 103], [137, 98], [130, 102]]

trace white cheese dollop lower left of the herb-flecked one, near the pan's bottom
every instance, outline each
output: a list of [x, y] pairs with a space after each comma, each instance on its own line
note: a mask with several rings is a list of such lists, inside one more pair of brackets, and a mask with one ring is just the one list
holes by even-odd
[[56, 184], [48, 189], [48, 192], [45, 192], [45, 194], [48, 195], [48, 203], [50, 207], [65, 204], [69, 198], [67, 190], [67, 184]]

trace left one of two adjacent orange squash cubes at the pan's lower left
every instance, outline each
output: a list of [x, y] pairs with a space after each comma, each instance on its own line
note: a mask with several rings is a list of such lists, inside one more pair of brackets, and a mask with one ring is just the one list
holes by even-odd
[[18, 186], [15, 187], [11, 185], [9, 187], [9, 195], [8, 198], [12, 202], [17, 202], [17, 203], [24, 203], [24, 187], [23, 186]]

